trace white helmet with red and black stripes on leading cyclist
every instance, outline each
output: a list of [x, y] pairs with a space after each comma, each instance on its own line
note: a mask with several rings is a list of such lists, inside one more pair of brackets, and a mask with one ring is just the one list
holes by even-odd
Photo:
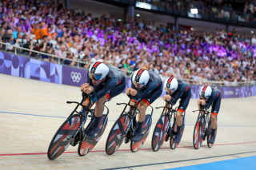
[[96, 61], [89, 68], [89, 76], [94, 80], [102, 80], [109, 73], [110, 69], [102, 62]]

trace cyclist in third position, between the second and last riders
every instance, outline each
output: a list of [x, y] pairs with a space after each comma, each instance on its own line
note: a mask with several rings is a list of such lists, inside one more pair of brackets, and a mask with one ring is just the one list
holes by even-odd
[[[185, 112], [189, 105], [191, 89], [185, 81], [177, 80], [174, 77], [168, 77], [166, 79], [164, 88], [166, 90], [166, 95], [162, 97], [164, 101], [168, 101], [171, 105], [175, 105], [178, 99], [181, 99], [176, 114], [177, 135], [174, 140], [174, 143], [179, 143], [182, 139], [182, 113]], [[169, 136], [166, 136], [167, 139], [168, 137]]]

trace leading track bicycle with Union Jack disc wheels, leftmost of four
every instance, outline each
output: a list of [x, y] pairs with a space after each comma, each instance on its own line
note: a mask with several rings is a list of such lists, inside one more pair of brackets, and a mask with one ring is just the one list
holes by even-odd
[[[78, 155], [85, 156], [90, 152], [94, 146], [98, 143], [98, 140], [102, 137], [107, 124], [107, 116], [109, 109], [106, 108], [106, 113], [102, 115], [102, 118], [98, 125], [98, 132], [95, 136], [87, 136], [86, 132], [91, 125], [94, 124], [94, 109], [82, 105], [86, 98], [90, 99], [90, 95], [82, 93], [82, 101], [66, 101], [67, 104], [77, 104], [74, 111], [67, 117], [66, 121], [58, 128], [53, 139], [50, 141], [50, 145], [47, 151], [47, 156], [50, 160], [54, 160], [61, 156], [62, 153], [70, 146], [78, 145]], [[82, 106], [82, 109], [78, 112], [78, 106]], [[89, 124], [84, 128], [86, 120], [91, 117]]]

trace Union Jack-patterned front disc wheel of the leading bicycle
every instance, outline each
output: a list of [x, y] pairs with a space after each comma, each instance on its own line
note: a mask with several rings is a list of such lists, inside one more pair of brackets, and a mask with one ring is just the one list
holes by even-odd
[[58, 158], [69, 147], [75, 132], [77, 132], [81, 124], [81, 118], [78, 114], [74, 114], [66, 119], [58, 128], [53, 139], [50, 141], [47, 156], [50, 160]]

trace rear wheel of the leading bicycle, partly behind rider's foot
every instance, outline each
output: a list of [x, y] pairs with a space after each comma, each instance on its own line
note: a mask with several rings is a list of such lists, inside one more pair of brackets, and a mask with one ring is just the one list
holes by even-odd
[[[106, 120], [105, 120], [106, 118]], [[102, 115], [101, 120], [98, 124], [98, 132], [97, 136], [94, 138], [88, 138], [84, 139], [82, 142], [80, 142], [78, 146], [78, 155], [79, 156], [85, 156], [88, 152], [90, 152], [94, 146], [98, 143], [98, 141], [101, 139], [103, 132], [105, 131], [107, 124], [107, 117], [106, 114]]]

